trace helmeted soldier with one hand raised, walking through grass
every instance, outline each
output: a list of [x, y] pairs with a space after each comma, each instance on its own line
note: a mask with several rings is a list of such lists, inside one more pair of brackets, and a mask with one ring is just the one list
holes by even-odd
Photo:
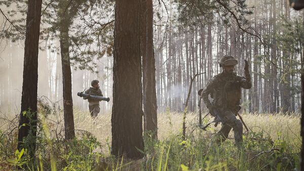
[[[217, 132], [217, 143], [227, 139], [230, 130], [234, 130], [234, 138], [236, 145], [240, 145], [243, 141], [243, 125], [241, 120], [236, 116], [241, 109], [241, 87], [245, 89], [251, 88], [251, 77], [249, 74], [249, 64], [245, 60], [244, 74], [245, 77], [238, 76], [234, 73], [235, 65], [238, 60], [231, 55], [225, 55], [221, 58], [219, 66], [223, 72], [214, 76], [202, 92], [202, 98], [210, 113], [214, 110], [222, 122], [221, 129]], [[210, 102], [208, 95], [213, 98]]]

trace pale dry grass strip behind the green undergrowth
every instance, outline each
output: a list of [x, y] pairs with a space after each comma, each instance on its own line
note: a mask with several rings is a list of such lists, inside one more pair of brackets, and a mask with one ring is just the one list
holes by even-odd
[[[206, 113], [202, 114], [203, 116]], [[263, 131], [265, 135], [269, 135], [273, 140], [282, 138], [288, 142], [294, 149], [300, 149], [300, 116], [296, 114], [244, 114], [241, 115], [245, 124], [252, 131]], [[204, 122], [212, 121], [212, 117], [207, 115]], [[75, 129], [86, 130], [96, 136], [101, 144], [107, 144], [111, 141], [111, 115], [110, 113], [99, 114], [98, 118], [93, 120], [87, 111], [74, 112]], [[188, 113], [186, 117], [187, 134], [194, 131], [200, 131], [198, 125], [198, 114]], [[220, 129], [210, 126], [208, 131], [203, 131], [207, 137], [212, 136]], [[182, 114], [181, 113], [160, 113], [158, 114], [158, 138], [165, 140], [170, 136], [181, 133]], [[244, 128], [244, 132], [246, 132]], [[233, 138], [233, 131], [230, 133]], [[228, 141], [234, 141], [229, 139]]]

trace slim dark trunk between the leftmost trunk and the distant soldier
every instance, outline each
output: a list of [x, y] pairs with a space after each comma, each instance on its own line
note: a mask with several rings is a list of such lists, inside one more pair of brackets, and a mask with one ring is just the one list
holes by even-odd
[[[62, 16], [63, 18], [65, 16]], [[65, 21], [65, 22], [64, 22]], [[69, 57], [69, 36], [68, 20], [63, 19], [60, 25], [60, 51], [62, 64], [62, 87], [63, 87], [63, 115], [64, 115], [64, 135], [66, 140], [75, 137], [73, 99], [72, 99], [72, 78], [71, 64]]]

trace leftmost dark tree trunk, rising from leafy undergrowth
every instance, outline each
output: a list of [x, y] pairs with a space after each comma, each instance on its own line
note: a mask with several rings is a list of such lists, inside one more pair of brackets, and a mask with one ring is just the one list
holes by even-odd
[[[21, 113], [18, 131], [18, 150], [27, 148], [31, 157], [35, 154], [35, 136], [37, 125], [37, 82], [38, 51], [40, 36], [42, 0], [29, 0], [26, 17], [26, 35], [24, 43], [23, 84]], [[24, 111], [29, 111], [24, 115]], [[24, 125], [25, 124], [25, 125]], [[34, 140], [24, 144], [23, 139], [31, 134]]]

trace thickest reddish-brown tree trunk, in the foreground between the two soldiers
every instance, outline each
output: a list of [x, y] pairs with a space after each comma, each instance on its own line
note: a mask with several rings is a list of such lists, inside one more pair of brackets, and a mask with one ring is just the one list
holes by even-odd
[[132, 159], [144, 155], [139, 21], [140, 0], [116, 1], [111, 154]]

